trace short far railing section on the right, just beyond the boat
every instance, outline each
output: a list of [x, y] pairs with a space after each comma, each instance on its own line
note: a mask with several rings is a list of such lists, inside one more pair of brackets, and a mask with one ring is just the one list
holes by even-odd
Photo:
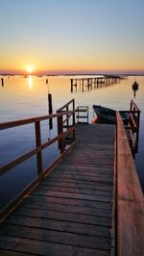
[[130, 116], [130, 120], [128, 125], [126, 125], [126, 129], [129, 131], [129, 141], [132, 147], [132, 154], [134, 155], [138, 151], [140, 110], [134, 101], [131, 100], [130, 111], [120, 111], [120, 113], [127, 113]]

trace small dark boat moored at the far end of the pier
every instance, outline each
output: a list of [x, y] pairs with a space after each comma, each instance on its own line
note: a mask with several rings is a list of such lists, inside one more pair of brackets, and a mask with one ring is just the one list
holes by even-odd
[[[98, 119], [106, 123], [115, 123], [116, 122], [116, 111], [102, 107], [100, 105], [93, 105], [93, 110], [98, 116]], [[129, 122], [129, 115], [127, 113], [121, 113], [124, 123]]]

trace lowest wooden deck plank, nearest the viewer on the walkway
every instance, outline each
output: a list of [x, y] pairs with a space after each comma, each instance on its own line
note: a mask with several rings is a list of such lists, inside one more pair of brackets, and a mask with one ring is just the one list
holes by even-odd
[[60, 243], [48, 243], [37, 240], [15, 238], [10, 236], [0, 236], [1, 244], [4, 249], [9, 249], [16, 252], [27, 252], [41, 256], [108, 256], [108, 250], [95, 250], [86, 247], [65, 245]]

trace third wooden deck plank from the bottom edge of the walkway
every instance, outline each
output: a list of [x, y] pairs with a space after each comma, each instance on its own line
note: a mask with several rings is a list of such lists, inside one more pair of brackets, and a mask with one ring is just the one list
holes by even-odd
[[[17, 217], [17, 216], [16, 216]], [[59, 219], [46, 219], [46, 218], [33, 218], [33, 217], [23, 217], [19, 216], [15, 218], [15, 216], [11, 216], [7, 219], [5, 225], [1, 225], [0, 234], [2, 235], [4, 232], [9, 235], [9, 229], [12, 226], [26, 226], [26, 227], [34, 227], [39, 229], [47, 230], [47, 235], [51, 230], [55, 230], [58, 232], [67, 232], [74, 234], [84, 234], [88, 236], [98, 236], [104, 238], [110, 238], [109, 227], [101, 226], [101, 225], [93, 225], [93, 224], [85, 224], [78, 222], [70, 222], [63, 221]]]

